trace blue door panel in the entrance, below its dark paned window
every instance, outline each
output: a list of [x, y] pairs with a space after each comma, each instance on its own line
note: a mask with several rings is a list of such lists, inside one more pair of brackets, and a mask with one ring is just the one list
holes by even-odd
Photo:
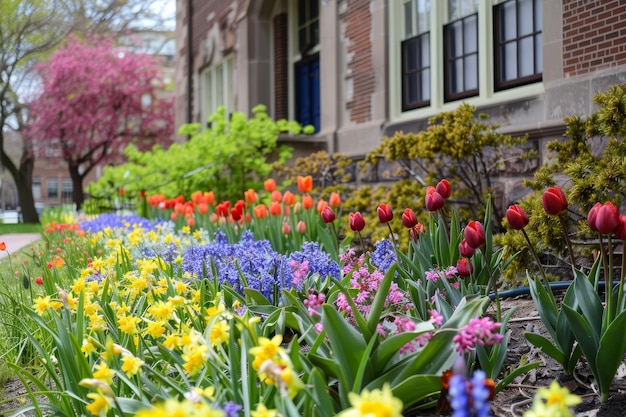
[[320, 130], [320, 60], [319, 55], [302, 60], [295, 66], [296, 120]]

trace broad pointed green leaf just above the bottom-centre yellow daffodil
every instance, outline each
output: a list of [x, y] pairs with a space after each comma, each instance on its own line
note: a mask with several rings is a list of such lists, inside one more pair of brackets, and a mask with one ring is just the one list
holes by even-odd
[[339, 364], [339, 372], [344, 374], [346, 383], [352, 387], [367, 345], [363, 336], [333, 306], [324, 304], [322, 309], [322, 323], [333, 356]]

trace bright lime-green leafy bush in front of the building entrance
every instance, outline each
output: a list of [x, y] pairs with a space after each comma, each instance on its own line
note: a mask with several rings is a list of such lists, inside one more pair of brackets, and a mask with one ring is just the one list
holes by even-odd
[[[272, 171], [274, 161], [284, 164], [291, 149], [279, 146], [281, 132], [300, 133], [295, 122], [274, 122], [265, 106], [252, 109], [253, 117], [244, 113], [227, 115], [224, 107], [209, 118], [210, 127], [184, 125], [179, 134], [189, 140], [167, 149], [155, 147], [150, 152], [126, 149], [128, 163], [107, 167], [90, 193], [110, 200], [123, 188], [128, 198], [136, 198], [141, 190], [168, 197], [189, 196], [196, 190], [212, 190], [218, 200], [236, 201], [249, 188], [261, 188]], [[135, 200], [136, 201], [136, 200]]]

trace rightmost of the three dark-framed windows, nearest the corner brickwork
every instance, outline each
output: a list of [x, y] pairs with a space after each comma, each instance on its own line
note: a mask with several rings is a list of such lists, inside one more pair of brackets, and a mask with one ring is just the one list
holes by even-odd
[[540, 0], [508, 0], [493, 8], [495, 90], [541, 81]]

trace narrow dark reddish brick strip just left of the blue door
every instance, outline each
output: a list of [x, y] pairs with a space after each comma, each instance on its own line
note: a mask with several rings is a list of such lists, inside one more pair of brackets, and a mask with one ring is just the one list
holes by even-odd
[[274, 119], [289, 117], [287, 33], [287, 13], [281, 13], [274, 18]]

